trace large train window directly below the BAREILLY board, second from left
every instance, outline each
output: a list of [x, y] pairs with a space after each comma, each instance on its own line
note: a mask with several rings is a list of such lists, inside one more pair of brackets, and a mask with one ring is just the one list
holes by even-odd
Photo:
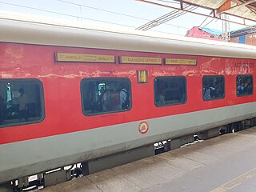
[[81, 93], [85, 115], [114, 113], [131, 107], [129, 78], [84, 78]]

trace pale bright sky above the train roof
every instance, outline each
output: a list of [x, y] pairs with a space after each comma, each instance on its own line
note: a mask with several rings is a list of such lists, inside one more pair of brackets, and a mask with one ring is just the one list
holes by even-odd
[[[170, 3], [168, 5], [174, 6]], [[136, 29], [173, 10], [135, 0], [0, 0], [0, 13], [2, 11], [32, 14], [63, 22], [82, 22], [93, 26]], [[210, 14], [200, 8], [196, 11]], [[217, 19], [212, 20], [196, 14], [183, 14], [151, 30], [184, 36], [193, 26], [222, 30], [222, 24], [222, 21]], [[244, 26], [230, 23], [229, 29], [237, 30], [242, 27]]]

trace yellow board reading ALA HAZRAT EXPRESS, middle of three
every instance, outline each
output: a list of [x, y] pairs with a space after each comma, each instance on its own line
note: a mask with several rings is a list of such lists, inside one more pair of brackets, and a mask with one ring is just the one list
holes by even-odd
[[161, 65], [162, 58], [142, 58], [142, 57], [127, 57], [121, 56], [120, 62], [124, 64], [155, 64]]

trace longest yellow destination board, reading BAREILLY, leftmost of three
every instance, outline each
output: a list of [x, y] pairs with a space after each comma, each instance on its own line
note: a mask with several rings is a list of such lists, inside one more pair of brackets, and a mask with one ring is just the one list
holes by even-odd
[[55, 53], [56, 62], [108, 62], [114, 63], [114, 55]]

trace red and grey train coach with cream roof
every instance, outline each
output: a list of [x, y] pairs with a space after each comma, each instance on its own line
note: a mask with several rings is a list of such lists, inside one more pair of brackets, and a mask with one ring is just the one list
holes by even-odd
[[256, 116], [253, 46], [3, 18], [0, 27], [2, 184]]

